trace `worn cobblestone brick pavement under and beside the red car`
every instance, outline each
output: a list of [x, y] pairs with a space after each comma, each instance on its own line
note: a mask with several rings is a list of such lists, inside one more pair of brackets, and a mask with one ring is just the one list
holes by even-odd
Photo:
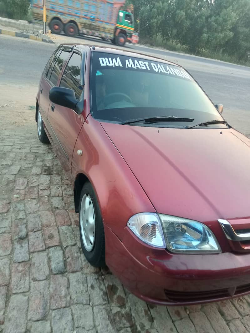
[[153, 306], [91, 267], [72, 194], [33, 120], [0, 132], [0, 333], [250, 332], [249, 296]]

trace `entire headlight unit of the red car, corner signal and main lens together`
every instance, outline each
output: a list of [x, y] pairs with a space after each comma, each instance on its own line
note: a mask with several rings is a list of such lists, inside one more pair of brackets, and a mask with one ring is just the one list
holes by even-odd
[[[220, 253], [220, 245], [203, 223], [182, 217], [139, 213], [132, 216], [129, 229], [144, 243], [174, 253]], [[166, 241], [165, 241], [166, 239]]]

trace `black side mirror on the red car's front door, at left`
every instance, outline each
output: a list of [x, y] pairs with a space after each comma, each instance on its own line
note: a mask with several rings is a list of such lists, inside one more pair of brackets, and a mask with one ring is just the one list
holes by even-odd
[[52, 103], [64, 106], [66, 108], [76, 110], [79, 102], [73, 89], [63, 87], [53, 87], [49, 91], [49, 99]]

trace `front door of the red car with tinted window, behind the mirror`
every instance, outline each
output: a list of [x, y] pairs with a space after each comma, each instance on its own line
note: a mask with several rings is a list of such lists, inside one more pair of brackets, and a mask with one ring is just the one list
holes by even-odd
[[[84, 58], [84, 59], [83, 59]], [[60, 87], [73, 89], [78, 101], [83, 96], [85, 53], [73, 52], [63, 70]], [[48, 121], [57, 142], [57, 156], [71, 177], [71, 161], [84, 118], [72, 109], [50, 103]]]

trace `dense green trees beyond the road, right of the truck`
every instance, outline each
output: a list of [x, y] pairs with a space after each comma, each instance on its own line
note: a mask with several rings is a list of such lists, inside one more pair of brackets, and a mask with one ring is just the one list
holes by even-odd
[[[250, 0], [127, 0], [140, 19], [140, 38], [250, 60]], [[170, 44], [169, 44], [170, 45]]]

